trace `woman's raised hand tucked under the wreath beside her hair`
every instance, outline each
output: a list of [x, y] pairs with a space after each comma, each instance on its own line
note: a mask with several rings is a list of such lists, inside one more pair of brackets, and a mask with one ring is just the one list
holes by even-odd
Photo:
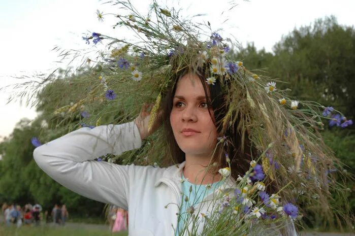
[[157, 117], [154, 120], [154, 123], [150, 130], [148, 130], [148, 123], [150, 119], [150, 111], [153, 107], [153, 104], [144, 104], [142, 106], [141, 113], [135, 119], [135, 123], [138, 127], [139, 134], [141, 135], [141, 139], [147, 138], [150, 134], [152, 134], [161, 124], [162, 124], [162, 111], [157, 112]]

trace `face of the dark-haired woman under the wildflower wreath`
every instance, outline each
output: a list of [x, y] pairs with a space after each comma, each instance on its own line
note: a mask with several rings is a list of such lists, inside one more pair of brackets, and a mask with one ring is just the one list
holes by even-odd
[[211, 156], [217, 142], [217, 128], [208, 112], [205, 91], [196, 74], [189, 73], [179, 79], [170, 124], [175, 140], [185, 154]]

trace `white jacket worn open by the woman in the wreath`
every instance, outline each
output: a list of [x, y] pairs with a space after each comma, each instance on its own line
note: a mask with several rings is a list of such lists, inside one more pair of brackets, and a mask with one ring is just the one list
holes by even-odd
[[[61, 185], [85, 197], [128, 210], [130, 236], [173, 236], [182, 198], [180, 180], [185, 162], [159, 168], [94, 160], [108, 153], [119, 155], [141, 144], [134, 122], [93, 129], [85, 127], [36, 148], [34, 158], [42, 170]], [[229, 180], [222, 188], [230, 191], [233, 186], [233, 180]], [[206, 196], [203, 204], [196, 207], [197, 212], [208, 215], [215, 206], [216, 193]], [[201, 214], [199, 217], [203, 220]], [[198, 232], [202, 228], [200, 224]]]

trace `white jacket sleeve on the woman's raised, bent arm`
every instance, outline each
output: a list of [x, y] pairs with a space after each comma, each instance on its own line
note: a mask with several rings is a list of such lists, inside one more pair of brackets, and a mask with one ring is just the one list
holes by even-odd
[[130, 168], [94, 159], [108, 153], [139, 148], [134, 122], [81, 128], [44, 144], [34, 151], [40, 168], [64, 187], [85, 197], [128, 208]]

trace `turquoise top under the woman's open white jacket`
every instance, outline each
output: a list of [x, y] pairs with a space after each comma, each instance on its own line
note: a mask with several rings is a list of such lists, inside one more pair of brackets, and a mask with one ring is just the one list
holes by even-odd
[[[180, 206], [180, 216], [178, 225], [175, 230], [175, 236], [179, 235], [179, 231], [182, 230], [183, 225], [186, 221], [186, 217], [189, 215], [186, 213], [188, 208], [195, 208], [196, 205], [201, 203], [205, 196], [208, 196], [210, 193], [213, 193], [219, 186], [222, 184], [222, 181], [214, 182], [212, 184], [192, 184], [184, 177], [184, 174], [181, 175], [182, 178], [182, 199]], [[191, 187], [191, 192], [190, 192]], [[187, 197], [187, 201], [186, 201]]]

